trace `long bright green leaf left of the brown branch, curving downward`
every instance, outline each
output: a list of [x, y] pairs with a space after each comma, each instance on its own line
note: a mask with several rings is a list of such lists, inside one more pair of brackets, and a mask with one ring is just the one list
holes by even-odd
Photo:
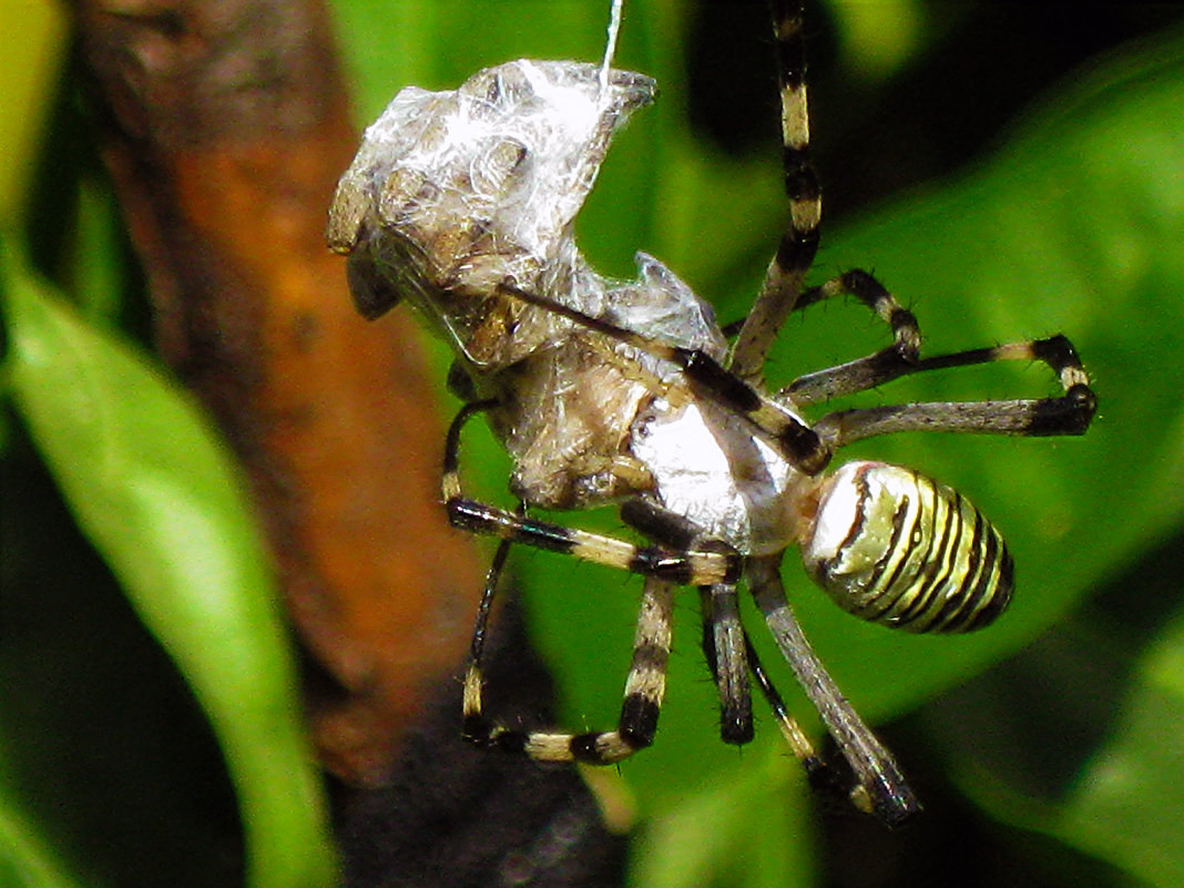
[[213, 725], [239, 794], [249, 883], [329, 884], [292, 656], [232, 461], [188, 394], [0, 258], [17, 407]]

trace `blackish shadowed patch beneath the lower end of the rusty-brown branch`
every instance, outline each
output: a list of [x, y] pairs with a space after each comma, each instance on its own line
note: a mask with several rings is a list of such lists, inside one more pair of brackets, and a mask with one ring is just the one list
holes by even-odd
[[[488, 712], [529, 714], [530, 727], [554, 723], [551, 676], [513, 601], [496, 623]], [[459, 677], [437, 687], [386, 786], [339, 786], [335, 794], [346, 888], [559, 888], [623, 879], [626, 839], [605, 830], [574, 767], [461, 740]]]

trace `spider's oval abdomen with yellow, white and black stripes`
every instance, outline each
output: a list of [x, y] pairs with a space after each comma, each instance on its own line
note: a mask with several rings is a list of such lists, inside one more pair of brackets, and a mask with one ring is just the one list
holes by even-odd
[[982, 629], [1011, 599], [995, 526], [957, 490], [886, 463], [848, 463], [824, 482], [802, 558], [841, 607], [912, 632]]

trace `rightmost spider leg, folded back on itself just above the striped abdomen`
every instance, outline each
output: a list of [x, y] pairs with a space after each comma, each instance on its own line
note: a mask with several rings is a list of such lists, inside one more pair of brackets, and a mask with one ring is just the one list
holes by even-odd
[[1060, 398], [932, 401], [844, 410], [824, 416], [815, 424], [815, 430], [835, 449], [876, 435], [905, 431], [1040, 437], [1082, 435], [1098, 408], [1098, 398], [1089, 387], [1089, 378], [1076, 350], [1064, 336], [928, 358], [909, 367], [897, 368], [899, 372], [886, 373], [879, 381], [922, 371], [1016, 360], [1047, 363], [1056, 374], [1064, 394]]

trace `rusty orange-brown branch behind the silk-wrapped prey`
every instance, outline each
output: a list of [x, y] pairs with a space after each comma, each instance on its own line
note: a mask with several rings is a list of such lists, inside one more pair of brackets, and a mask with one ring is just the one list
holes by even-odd
[[464, 651], [480, 572], [438, 504], [443, 425], [406, 314], [367, 324], [322, 239], [356, 147], [326, 11], [86, 0], [104, 156], [162, 355], [242, 458], [289, 612], [330, 682], [326, 765], [382, 778]]

